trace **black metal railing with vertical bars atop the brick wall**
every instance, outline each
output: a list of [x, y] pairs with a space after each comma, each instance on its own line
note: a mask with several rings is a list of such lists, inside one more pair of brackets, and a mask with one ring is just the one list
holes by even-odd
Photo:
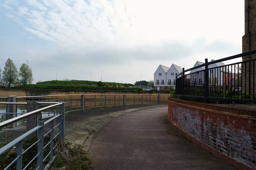
[[[256, 58], [224, 65], [224, 61], [256, 54], [256, 50], [218, 59], [176, 74], [176, 96], [228, 100], [230, 102], [256, 102]], [[230, 61], [229, 61], [230, 62]], [[196, 69], [200, 71], [197, 71]], [[186, 72], [191, 71], [189, 74]]]

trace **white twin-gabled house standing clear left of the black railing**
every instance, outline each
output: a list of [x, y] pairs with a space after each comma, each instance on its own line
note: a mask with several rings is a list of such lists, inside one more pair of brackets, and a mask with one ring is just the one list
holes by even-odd
[[176, 73], [182, 72], [182, 68], [178, 65], [172, 64], [171, 67], [159, 65], [154, 73], [154, 89], [163, 91], [169, 89], [171, 86], [175, 88]]

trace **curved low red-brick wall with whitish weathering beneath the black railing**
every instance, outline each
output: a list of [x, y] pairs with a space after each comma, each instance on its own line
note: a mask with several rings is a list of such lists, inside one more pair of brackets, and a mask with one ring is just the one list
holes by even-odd
[[256, 170], [256, 111], [169, 98], [169, 123], [241, 170]]

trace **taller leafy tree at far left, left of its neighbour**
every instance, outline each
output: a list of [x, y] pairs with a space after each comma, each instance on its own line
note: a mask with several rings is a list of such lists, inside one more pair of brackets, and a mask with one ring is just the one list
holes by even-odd
[[3, 70], [3, 80], [9, 82], [9, 87], [12, 82], [15, 82], [18, 78], [18, 70], [12, 59], [8, 58], [6, 60], [4, 70]]

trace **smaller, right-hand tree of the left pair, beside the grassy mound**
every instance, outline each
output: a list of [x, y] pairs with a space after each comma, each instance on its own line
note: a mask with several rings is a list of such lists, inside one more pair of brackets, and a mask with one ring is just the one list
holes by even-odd
[[26, 85], [28, 83], [32, 83], [33, 79], [33, 75], [32, 75], [32, 69], [29, 68], [29, 66], [27, 64], [22, 64], [20, 66], [20, 78], [21, 78], [21, 82], [23, 82], [24, 87], [26, 87]]

